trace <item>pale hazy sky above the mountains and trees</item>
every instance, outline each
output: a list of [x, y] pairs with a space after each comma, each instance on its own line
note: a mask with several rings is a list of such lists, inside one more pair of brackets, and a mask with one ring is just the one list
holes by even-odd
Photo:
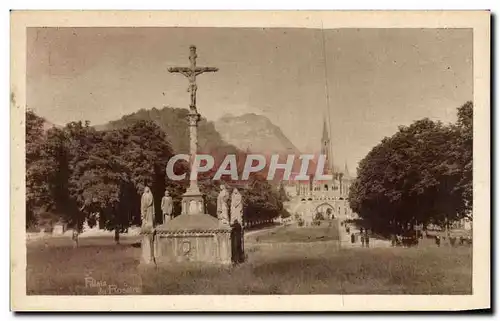
[[27, 107], [52, 123], [103, 124], [139, 109], [188, 108], [198, 77], [202, 116], [256, 113], [304, 153], [329, 124], [334, 163], [357, 163], [399, 125], [453, 122], [473, 98], [471, 29], [28, 28]]

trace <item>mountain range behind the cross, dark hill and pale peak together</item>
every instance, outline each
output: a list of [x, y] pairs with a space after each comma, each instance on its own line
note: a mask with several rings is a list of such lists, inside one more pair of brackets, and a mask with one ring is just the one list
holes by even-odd
[[[163, 109], [141, 109], [135, 113], [104, 125], [94, 126], [97, 130], [112, 130], [128, 127], [139, 120], [153, 121], [167, 135], [167, 139], [177, 154], [189, 153], [188, 110], [184, 108], [164, 107]], [[224, 116], [216, 122], [202, 118], [198, 126], [198, 152], [210, 154], [218, 166], [227, 154], [236, 154], [238, 168], [243, 168], [246, 152], [271, 154], [298, 154], [297, 148], [265, 116], [246, 114], [242, 116]], [[286, 158], [285, 158], [286, 159]], [[280, 160], [281, 162], [284, 159]], [[298, 171], [300, 164], [294, 164]], [[261, 171], [267, 175], [269, 161]], [[277, 174], [276, 177], [280, 176]]]

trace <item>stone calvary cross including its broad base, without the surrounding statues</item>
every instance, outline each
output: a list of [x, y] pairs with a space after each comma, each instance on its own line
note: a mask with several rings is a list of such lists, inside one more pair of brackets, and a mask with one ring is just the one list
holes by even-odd
[[[191, 46], [189, 67], [168, 68], [171, 73], [180, 73], [189, 80], [188, 91], [191, 103], [187, 119], [189, 121], [189, 147], [191, 172], [197, 171], [193, 162], [197, 153], [197, 128], [200, 114], [196, 110], [196, 76], [204, 72], [216, 72], [217, 68], [196, 67], [196, 47]], [[168, 167], [167, 167], [168, 172]], [[141, 264], [172, 264], [201, 262], [209, 264], [231, 264], [231, 228], [221, 224], [217, 218], [208, 215], [203, 194], [198, 188], [197, 177], [190, 180], [189, 187], [182, 195], [181, 215], [145, 232], [142, 241]]]

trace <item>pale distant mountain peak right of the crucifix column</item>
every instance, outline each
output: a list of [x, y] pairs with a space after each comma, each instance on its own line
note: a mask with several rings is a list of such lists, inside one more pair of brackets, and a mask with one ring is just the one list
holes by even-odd
[[241, 150], [262, 154], [298, 154], [297, 147], [267, 117], [256, 114], [223, 116], [215, 122], [222, 139]]

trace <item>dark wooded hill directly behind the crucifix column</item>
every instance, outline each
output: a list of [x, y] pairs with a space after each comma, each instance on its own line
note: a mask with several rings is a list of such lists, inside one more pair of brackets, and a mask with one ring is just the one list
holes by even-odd
[[[152, 121], [166, 134], [175, 153], [189, 153], [188, 110], [185, 108], [164, 107], [162, 109], [141, 109], [104, 125], [96, 125], [97, 130], [119, 129], [132, 125], [139, 120]], [[200, 153], [236, 153], [237, 149], [225, 142], [214, 124], [202, 118], [198, 123], [198, 151]]]

